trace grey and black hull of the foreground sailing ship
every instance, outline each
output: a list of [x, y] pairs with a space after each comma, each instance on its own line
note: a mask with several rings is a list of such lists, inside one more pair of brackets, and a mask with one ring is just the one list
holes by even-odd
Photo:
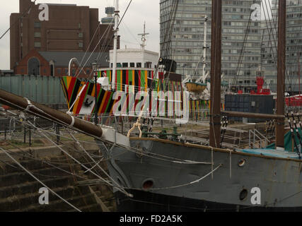
[[112, 179], [133, 193], [115, 189], [120, 211], [302, 210], [300, 160], [148, 138], [130, 146], [101, 148]]

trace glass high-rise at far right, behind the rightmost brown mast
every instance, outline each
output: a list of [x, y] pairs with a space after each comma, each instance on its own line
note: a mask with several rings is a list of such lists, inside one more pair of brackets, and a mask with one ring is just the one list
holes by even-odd
[[[262, 21], [262, 74], [269, 88], [277, 87], [278, 2], [264, 4], [272, 17]], [[302, 65], [302, 1], [286, 1], [286, 90], [298, 92], [299, 68]]]

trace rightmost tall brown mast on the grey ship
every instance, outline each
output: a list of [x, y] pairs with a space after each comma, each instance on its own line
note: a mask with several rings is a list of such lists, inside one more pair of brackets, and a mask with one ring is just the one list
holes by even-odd
[[[277, 114], [284, 115], [286, 69], [286, 0], [279, 0], [278, 11]], [[284, 132], [284, 119], [277, 119], [276, 148], [284, 148]]]

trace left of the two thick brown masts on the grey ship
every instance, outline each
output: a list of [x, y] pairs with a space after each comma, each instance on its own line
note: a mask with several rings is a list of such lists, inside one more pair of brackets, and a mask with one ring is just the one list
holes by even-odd
[[210, 146], [221, 141], [221, 0], [212, 0]]

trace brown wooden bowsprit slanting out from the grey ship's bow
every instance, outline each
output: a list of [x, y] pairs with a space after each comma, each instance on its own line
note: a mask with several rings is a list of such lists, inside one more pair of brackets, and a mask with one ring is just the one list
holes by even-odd
[[63, 122], [93, 136], [101, 137], [103, 135], [103, 131], [100, 126], [96, 126], [91, 122], [72, 117], [69, 114], [59, 112], [50, 107], [46, 107], [45, 105], [31, 102], [24, 97], [19, 97], [4, 90], [0, 90], [0, 102], [15, 109], [28, 109], [30, 110], [30, 114], [36, 115], [37, 117], [44, 117], [57, 123]]

